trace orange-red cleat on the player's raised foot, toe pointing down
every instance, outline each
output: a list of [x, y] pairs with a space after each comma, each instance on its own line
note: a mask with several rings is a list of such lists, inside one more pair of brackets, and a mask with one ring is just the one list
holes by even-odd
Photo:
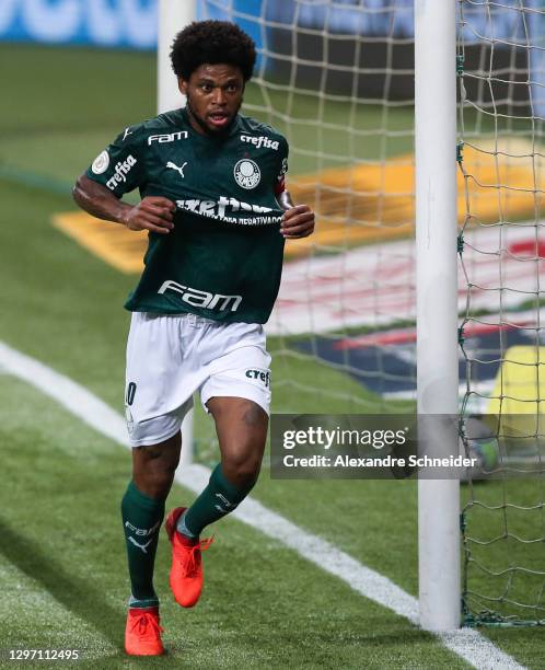
[[164, 527], [172, 544], [172, 567], [170, 584], [174, 600], [183, 608], [193, 608], [202, 590], [202, 559], [200, 552], [207, 550], [213, 541], [192, 540], [176, 530], [179, 517], [185, 507], [176, 507], [166, 517]]

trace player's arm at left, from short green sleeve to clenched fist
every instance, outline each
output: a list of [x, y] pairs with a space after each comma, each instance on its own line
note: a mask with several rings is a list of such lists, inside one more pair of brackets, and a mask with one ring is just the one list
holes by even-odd
[[169, 198], [146, 196], [132, 206], [123, 196], [146, 183], [141, 126], [126, 128], [77, 181], [72, 195], [85, 211], [130, 230], [169, 233], [175, 205]]

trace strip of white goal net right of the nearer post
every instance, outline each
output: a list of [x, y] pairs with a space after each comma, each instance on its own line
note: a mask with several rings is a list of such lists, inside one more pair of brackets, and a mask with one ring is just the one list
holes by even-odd
[[544, 623], [545, 8], [459, 1], [466, 623]]

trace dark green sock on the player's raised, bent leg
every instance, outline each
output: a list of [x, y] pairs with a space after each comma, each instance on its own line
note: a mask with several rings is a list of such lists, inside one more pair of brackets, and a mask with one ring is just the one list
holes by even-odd
[[243, 488], [233, 486], [225, 478], [221, 463], [218, 463], [210, 475], [207, 487], [184, 515], [183, 522], [190, 534], [200, 535], [206, 525], [232, 512], [252, 490], [255, 482]]

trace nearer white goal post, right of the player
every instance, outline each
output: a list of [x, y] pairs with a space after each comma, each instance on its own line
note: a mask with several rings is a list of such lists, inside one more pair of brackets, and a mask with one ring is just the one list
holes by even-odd
[[[415, 1], [417, 411], [425, 417], [457, 414], [455, 10], [454, 0]], [[429, 438], [444, 455], [457, 450], [457, 430], [439, 429]], [[426, 629], [460, 625], [459, 519], [459, 481], [420, 480], [419, 604]]]

